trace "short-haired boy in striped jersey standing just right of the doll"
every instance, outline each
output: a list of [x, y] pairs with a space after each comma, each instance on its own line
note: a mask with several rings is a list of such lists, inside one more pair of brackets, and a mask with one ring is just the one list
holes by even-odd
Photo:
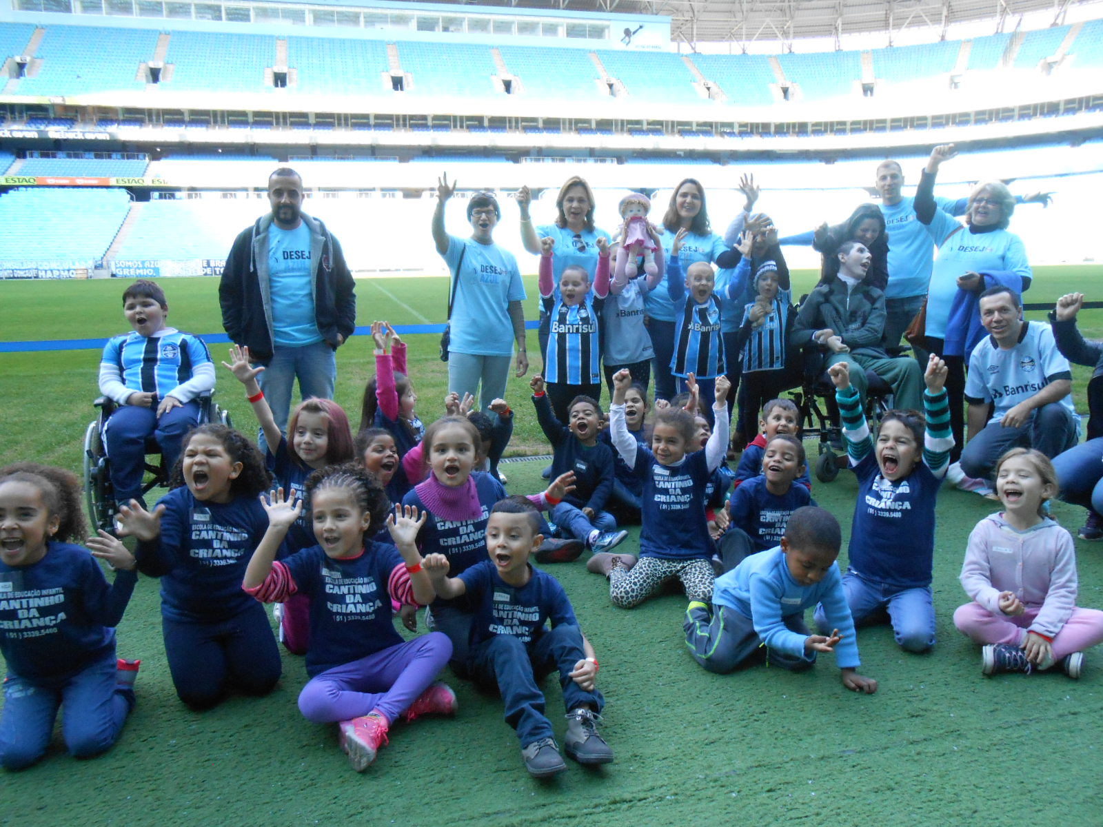
[[713, 426], [716, 377], [727, 373], [720, 332], [720, 297], [715, 292], [716, 273], [707, 261], [689, 265], [683, 278], [678, 251], [687, 234], [688, 230], [683, 227], [675, 235], [666, 262], [666, 290], [675, 313], [671, 373], [682, 379], [682, 390], [687, 389], [689, 375], [696, 376], [700, 406], [709, 426]]

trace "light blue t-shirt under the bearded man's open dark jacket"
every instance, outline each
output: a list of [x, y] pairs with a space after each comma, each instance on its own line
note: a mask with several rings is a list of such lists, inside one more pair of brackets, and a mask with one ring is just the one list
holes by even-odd
[[314, 316], [310, 279], [310, 227], [268, 228], [268, 286], [272, 302], [272, 341], [301, 347], [322, 341]]

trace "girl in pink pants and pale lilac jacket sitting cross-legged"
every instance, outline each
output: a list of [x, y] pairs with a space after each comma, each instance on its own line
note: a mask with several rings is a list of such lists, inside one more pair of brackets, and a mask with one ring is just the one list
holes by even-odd
[[1057, 496], [1057, 473], [1025, 448], [1000, 457], [995, 473], [1004, 511], [970, 535], [961, 582], [973, 602], [959, 606], [954, 625], [986, 644], [985, 675], [1060, 666], [1080, 677], [1083, 651], [1103, 642], [1103, 612], [1077, 608], [1072, 535], [1042, 512]]

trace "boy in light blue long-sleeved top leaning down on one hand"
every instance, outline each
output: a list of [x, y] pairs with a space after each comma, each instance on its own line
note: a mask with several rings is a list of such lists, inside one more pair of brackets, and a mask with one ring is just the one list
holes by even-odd
[[[812, 668], [820, 652], [835, 652], [843, 685], [877, 691], [860, 665], [854, 620], [836, 559], [843, 545], [838, 520], [805, 506], [793, 512], [778, 548], [760, 551], [716, 579], [713, 604], [689, 603], [683, 629], [694, 659], [709, 672], [728, 673], [762, 659], [793, 672]], [[804, 612], [822, 604], [834, 630], [814, 635]]]

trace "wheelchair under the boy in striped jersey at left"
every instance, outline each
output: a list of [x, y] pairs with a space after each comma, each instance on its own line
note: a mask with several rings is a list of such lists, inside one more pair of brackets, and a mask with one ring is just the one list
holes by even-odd
[[[200, 417], [197, 425], [222, 422], [229, 427], [229, 414], [219, 408], [210, 394], [200, 396]], [[110, 465], [107, 459], [107, 448], [104, 444], [104, 426], [118, 408], [118, 404], [106, 396], [100, 396], [93, 405], [99, 409], [97, 417], [88, 423], [84, 432], [84, 495], [88, 508], [88, 519], [93, 530], [101, 528], [111, 530], [115, 524], [115, 490], [111, 486]], [[165, 468], [161, 447], [153, 436], [146, 438], [146, 479], [142, 481], [142, 496], [157, 486], [169, 484], [171, 468]]]

